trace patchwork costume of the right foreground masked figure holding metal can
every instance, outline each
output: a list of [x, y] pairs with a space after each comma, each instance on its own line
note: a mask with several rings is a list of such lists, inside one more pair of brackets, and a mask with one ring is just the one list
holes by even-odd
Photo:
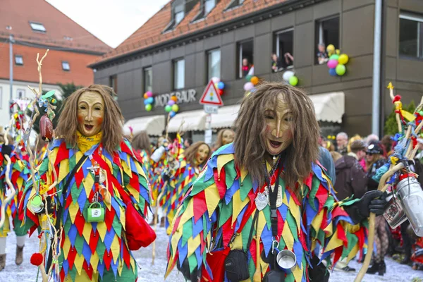
[[[257, 247], [251, 231], [257, 233], [259, 253], [267, 257], [272, 248], [271, 209], [269, 204], [258, 210], [255, 199], [265, 185], [253, 183], [248, 171], [235, 166], [233, 145], [218, 149], [208, 161], [197, 181], [187, 192], [176, 212], [168, 250], [166, 276], [178, 264], [178, 269], [201, 276], [201, 281], [228, 281], [224, 274], [224, 259], [229, 250], [244, 250], [247, 254], [250, 279], [257, 263]], [[288, 161], [284, 165], [289, 165]], [[279, 171], [278, 171], [279, 172]], [[274, 173], [274, 179], [280, 173]], [[366, 240], [364, 227], [354, 226], [342, 206], [356, 200], [337, 202], [329, 178], [317, 164], [304, 185], [298, 185], [297, 195], [283, 178], [279, 178], [281, 202], [276, 206], [278, 250], [295, 254], [295, 268], [286, 274], [285, 281], [309, 281], [307, 266], [311, 255], [322, 260], [333, 256], [333, 264], [340, 257], [355, 257]], [[279, 197], [278, 197], [279, 198]], [[240, 231], [239, 228], [245, 224]], [[237, 234], [239, 233], [239, 234]], [[231, 243], [231, 238], [234, 240]], [[247, 250], [247, 246], [249, 248]], [[230, 247], [229, 247], [230, 246]], [[209, 253], [211, 252], [211, 253]], [[269, 264], [260, 259], [262, 277]], [[185, 269], [184, 269], [185, 268]], [[186, 277], [186, 275], [184, 274]]]

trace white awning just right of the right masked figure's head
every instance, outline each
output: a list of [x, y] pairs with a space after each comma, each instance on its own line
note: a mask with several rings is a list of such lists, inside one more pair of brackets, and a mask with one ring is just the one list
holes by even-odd
[[342, 116], [345, 113], [344, 92], [314, 94], [309, 95], [309, 97], [314, 104], [318, 121], [342, 123]]

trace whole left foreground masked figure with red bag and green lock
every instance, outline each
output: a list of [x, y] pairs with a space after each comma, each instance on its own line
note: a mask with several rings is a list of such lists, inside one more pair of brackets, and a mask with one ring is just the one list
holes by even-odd
[[[155, 239], [142, 218], [150, 201], [147, 178], [123, 138], [122, 119], [102, 85], [75, 91], [61, 112], [36, 185], [25, 188], [20, 212], [30, 233], [37, 227], [59, 232], [52, 240], [59, 244], [44, 257], [48, 273], [49, 264], [54, 266], [55, 281], [136, 281], [131, 250]], [[36, 205], [36, 197], [47, 207]], [[45, 228], [50, 215], [56, 224]]]

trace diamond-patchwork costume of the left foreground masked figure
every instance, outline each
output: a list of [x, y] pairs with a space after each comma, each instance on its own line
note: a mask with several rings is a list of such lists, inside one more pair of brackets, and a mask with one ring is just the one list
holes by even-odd
[[[68, 278], [67, 281], [78, 282], [126, 282], [137, 278], [137, 264], [128, 248], [125, 233], [129, 224], [125, 221], [125, 199], [130, 199], [142, 214], [147, 214], [150, 202], [147, 178], [127, 140], [121, 142], [114, 154], [106, 152], [101, 140], [102, 133], [92, 137], [78, 133], [79, 149], [72, 149], [63, 139], [54, 140], [49, 147], [59, 184], [47, 193], [52, 195], [57, 192], [54, 202], [60, 202], [65, 207], [60, 219], [63, 226], [61, 255], [59, 264], [55, 265], [60, 268], [60, 281]], [[68, 175], [83, 154], [88, 158], [70, 179], [66, 195], [62, 195], [63, 186], [69, 180]], [[98, 183], [94, 182], [95, 173], [90, 168], [94, 164], [101, 168], [100, 191]], [[48, 157], [39, 166], [39, 178], [47, 185], [54, 180]], [[88, 222], [87, 210], [96, 192], [99, 192], [98, 202], [105, 209], [104, 221]], [[27, 185], [20, 206], [30, 233], [41, 223], [41, 217], [30, 208], [30, 199], [36, 193], [32, 185]]]

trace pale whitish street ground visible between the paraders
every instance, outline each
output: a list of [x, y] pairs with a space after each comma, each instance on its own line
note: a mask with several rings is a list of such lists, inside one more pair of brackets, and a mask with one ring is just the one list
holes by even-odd
[[[138, 281], [163, 281], [166, 271], [166, 247], [168, 237], [164, 228], [157, 228], [156, 240], [156, 259], [152, 265], [152, 246], [134, 252], [135, 258], [141, 269], [138, 271]], [[20, 266], [15, 264], [16, 236], [14, 233], [8, 235], [8, 247], [6, 248], [6, 268], [0, 271], [0, 282], [35, 282], [37, 277], [37, 268], [30, 264], [30, 256], [38, 251], [37, 235], [27, 240], [24, 248], [24, 262]], [[350, 262], [349, 266], [360, 269], [362, 264], [356, 261]], [[354, 281], [357, 274], [345, 273], [343, 271], [333, 271], [330, 282], [349, 282]], [[363, 282], [382, 282], [382, 281], [403, 281], [411, 282], [413, 278], [423, 279], [423, 271], [412, 270], [410, 266], [398, 264], [393, 259], [386, 258], [386, 274], [384, 276], [369, 275], [364, 276]], [[41, 281], [41, 278], [39, 278]], [[182, 274], [176, 269], [173, 270], [166, 279], [171, 282], [185, 281]]]

